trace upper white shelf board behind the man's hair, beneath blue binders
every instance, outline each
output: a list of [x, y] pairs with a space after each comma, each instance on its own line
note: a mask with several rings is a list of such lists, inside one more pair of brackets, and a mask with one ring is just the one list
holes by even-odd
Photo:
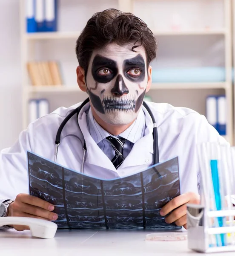
[[[154, 35], [225, 35], [225, 29], [199, 29], [199, 30], [179, 30], [179, 31], [158, 31], [152, 30]], [[80, 32], [37, 32], [26, 33], [27, 40], [47, 40], [47, 39], [77, 39]]]

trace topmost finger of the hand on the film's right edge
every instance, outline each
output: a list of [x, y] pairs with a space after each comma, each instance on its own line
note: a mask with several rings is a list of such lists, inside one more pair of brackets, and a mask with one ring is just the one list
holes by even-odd
[[160, 210], [160, 215], [165, 216], [166, 214], [178, 208], [179, 206], [187, 204], [190, 201], [191, 197], [191, 193], [186, 193], [172, 199], [169, 203], [162, 207], [162, 209]]

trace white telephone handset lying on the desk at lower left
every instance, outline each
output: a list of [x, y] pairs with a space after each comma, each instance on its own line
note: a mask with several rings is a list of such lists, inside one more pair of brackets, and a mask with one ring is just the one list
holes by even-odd
[[32, 236], [45, 239], [53, 238], [57, 230], [57, 224], [52, 221], [29, 217], [1, 217], [0, 227], [5, 225], [28, 226]]

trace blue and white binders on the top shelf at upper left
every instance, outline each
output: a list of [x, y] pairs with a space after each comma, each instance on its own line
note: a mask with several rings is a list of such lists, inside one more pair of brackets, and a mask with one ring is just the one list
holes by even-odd
[[57, 31], [57, 0], [26, 0], [27, 32]]

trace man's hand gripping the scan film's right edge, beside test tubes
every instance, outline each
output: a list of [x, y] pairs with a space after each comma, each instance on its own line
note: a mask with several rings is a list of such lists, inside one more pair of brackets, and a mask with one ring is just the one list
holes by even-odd
[[177, 226], [187, 228], [186, 204], [200, 204], [200, 196], [193, 192], [179, 195], [162, 207], [160, 215], [165, 216], [171, 212], [165, 219], [166, 223], [171, 224], [175, 222]]

